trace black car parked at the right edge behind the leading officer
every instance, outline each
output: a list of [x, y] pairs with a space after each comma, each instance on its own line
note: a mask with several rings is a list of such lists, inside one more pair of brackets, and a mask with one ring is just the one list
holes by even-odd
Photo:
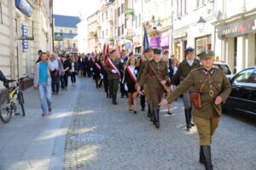
[[238, 72], [230, 84], [232, 91], [224, 110], [256, 117], [256, 66]]

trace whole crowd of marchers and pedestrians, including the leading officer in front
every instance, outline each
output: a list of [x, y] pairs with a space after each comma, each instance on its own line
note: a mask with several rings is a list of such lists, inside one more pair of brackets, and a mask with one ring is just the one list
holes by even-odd
[[[75, 85], [76, 75], [92, 77], [96, 88], [104, 87], [112, 105], [118, 105], [117, 95], [127, 98], [127, 110], [137, 114], [137, 100], [141, 111], [148, 106], [148, 118], [160, 127], [160, 106], [167, 105], [166, 114], [172, 115], [171, 103], [183, 95], [186, 128], [196, 125], [200, 137], [200, 162], [212, 169], [212, 135], [218, 127], [221, 103], [230, 94], [230, 82], [224, 72], [212, 67], [214, 52], [204, 50], [195, 59], [194, 48], [187, 48], [186, 59], [179, 63], [169, 58], [168, 51], [146, 48], [136, 57], [125, 50], [108, 54], [51, 54], [39, 51], [35, 66], [34, 87], [39, 88], [42, 116], [52, 111], [51, 95], [67, 90], [68, 77]], [[118, 55], [119, 54], [119, 55]], [[166, 99], [163, 99], [166, 98]], [[192, 104], [193, 102], [193, 104]], [[192, 122], [192, 115], [194, 122]]]

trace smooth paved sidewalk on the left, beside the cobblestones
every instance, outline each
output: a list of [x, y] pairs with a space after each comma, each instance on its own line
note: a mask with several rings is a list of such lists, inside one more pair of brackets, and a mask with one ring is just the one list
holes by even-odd
[[26, 116], [0, 122], [0, 170], [62, 169], [65, 140], [80, 82], [53, 96], [53, 111], [42, 117], [38, 90], [24, 92]]

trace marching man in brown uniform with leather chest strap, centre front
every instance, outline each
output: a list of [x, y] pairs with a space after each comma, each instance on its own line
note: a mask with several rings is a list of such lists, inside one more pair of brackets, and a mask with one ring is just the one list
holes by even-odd
[[145, 65], [143, 75], [140, 79], [138, 90], [143, 87], [145, 83], [148, 84], [148, 94], [152, 101], [152, 114], [154, 117], [154, 126], [160, 127], [159, 103], [164, 94], [164, 86], [168, 80], [168, 67], [166, 61], [161, 60], [161, 50], [154, 49], [154, 59], [148, 61]]

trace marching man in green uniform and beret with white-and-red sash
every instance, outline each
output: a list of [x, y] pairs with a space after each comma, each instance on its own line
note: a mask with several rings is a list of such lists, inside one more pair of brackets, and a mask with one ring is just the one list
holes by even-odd
[[117, 59], [117, 54], [115, 50], [110, 52], [111, 58], [107, 59], [104, 65], [104, 70], [108, 71], [108, 85], [110, 94], [112, 94], [112, 103], [117, 105], [116, 96], [119, 89], [119, 79], [121, 68], [120, 59]]

